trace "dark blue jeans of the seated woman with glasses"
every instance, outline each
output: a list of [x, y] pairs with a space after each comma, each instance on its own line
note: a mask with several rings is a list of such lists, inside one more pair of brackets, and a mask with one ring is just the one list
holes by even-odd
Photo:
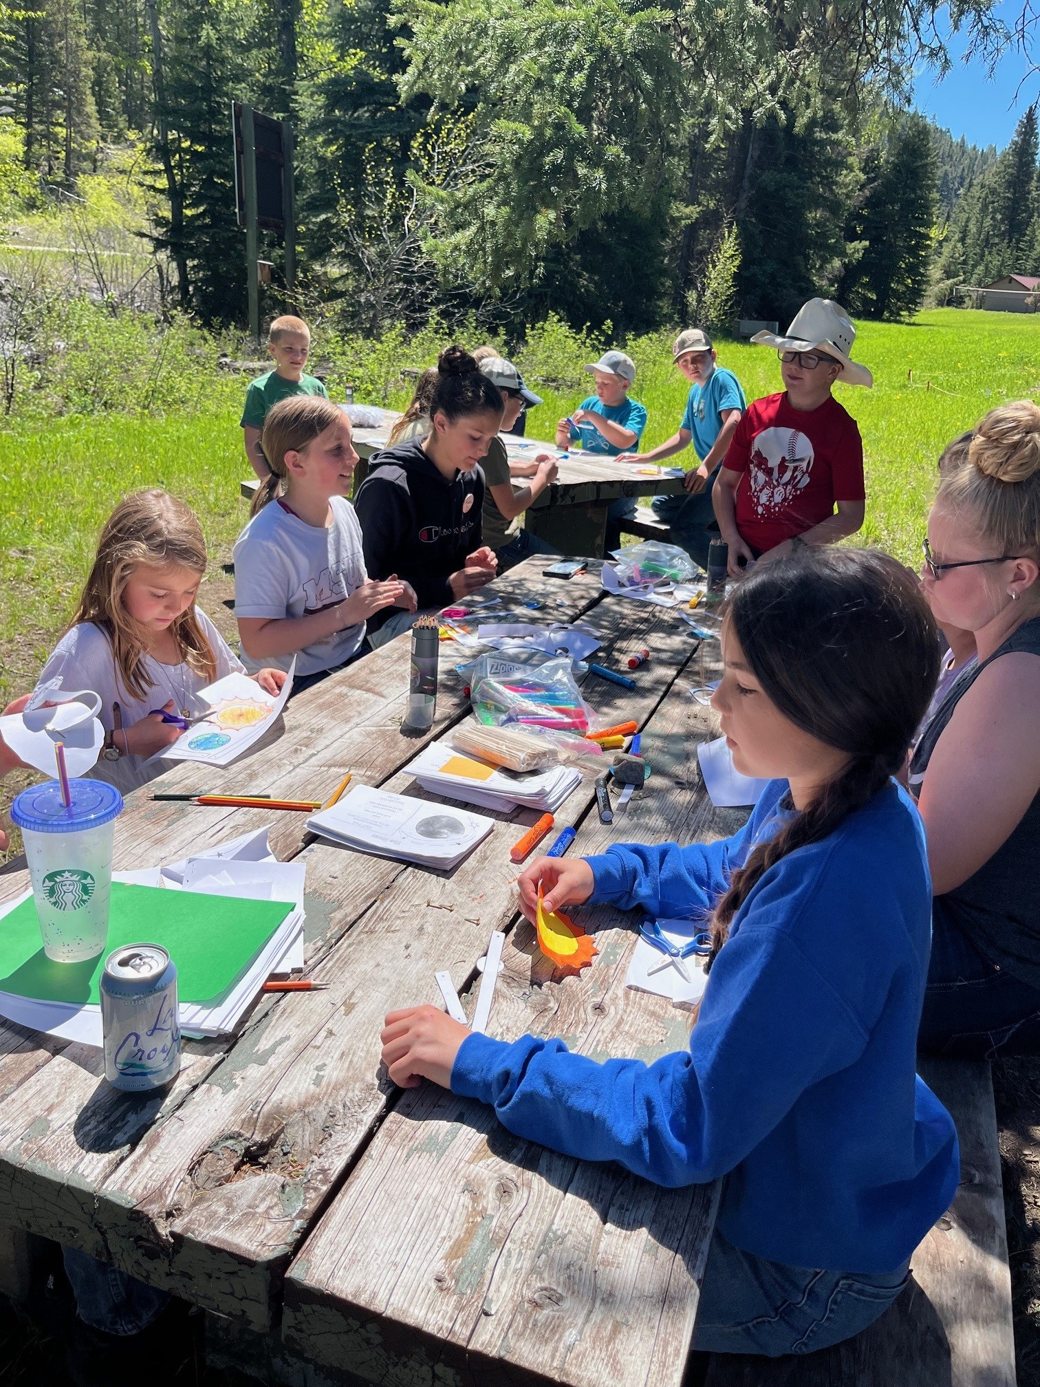
[[1040, 992], [990, 963], [942, 896], [932, 910], [932, 960], [918, 1046], [950, 1060], [1040, 1054]]

